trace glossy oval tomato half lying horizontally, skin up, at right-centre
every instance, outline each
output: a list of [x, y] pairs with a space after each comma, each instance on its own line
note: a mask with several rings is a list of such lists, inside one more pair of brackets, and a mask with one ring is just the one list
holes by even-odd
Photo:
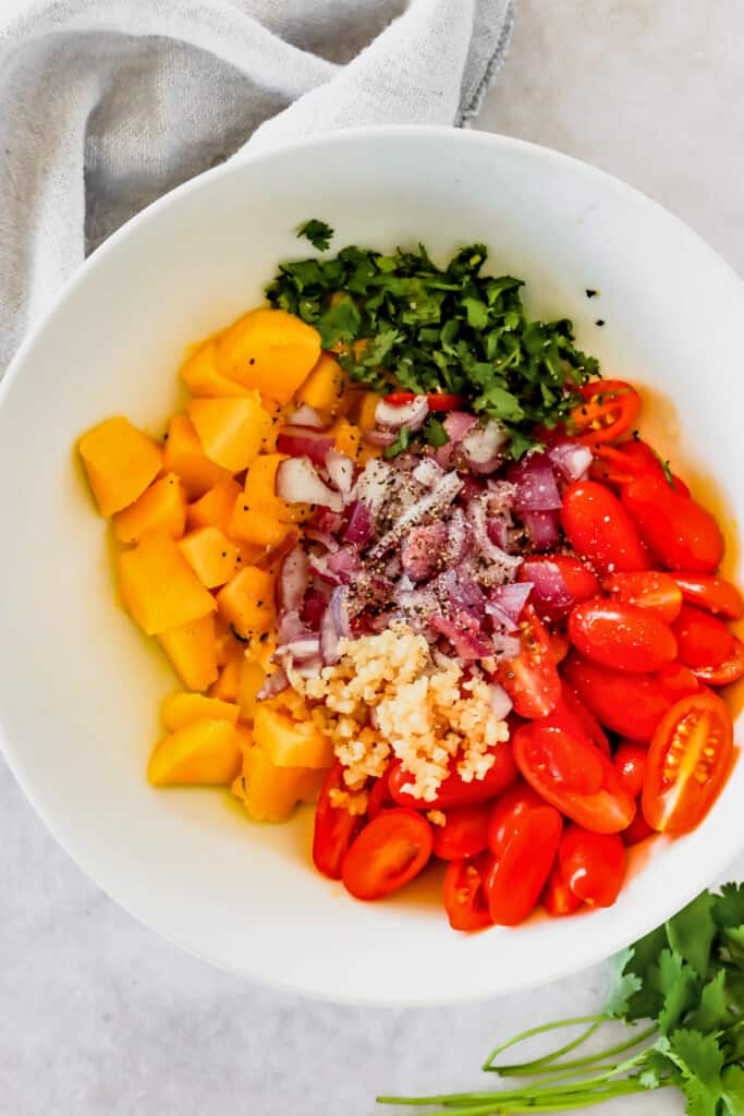
[[593, 663], [617, 671], [658, 671], [677, 655], [668, 624], [624, 600], [595, 597], [569, 616], [569, 638]]

